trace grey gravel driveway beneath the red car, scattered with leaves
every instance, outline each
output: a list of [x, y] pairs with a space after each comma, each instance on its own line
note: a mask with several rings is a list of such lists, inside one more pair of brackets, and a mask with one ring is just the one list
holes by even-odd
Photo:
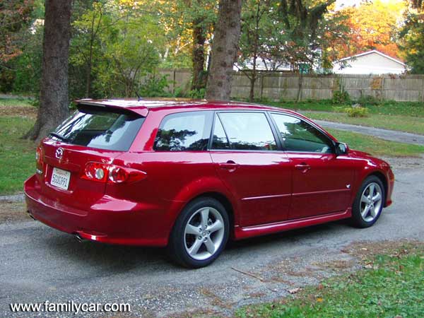
[[163, 249], [79, 244], [35, 221], [3, 223], [0, 317], [23, 317], [11, 314], [11, 302], [129, 302], [129, 317], [155, 317], [228, 315], [242, 305], [281, 298], [333, 274], [331, 266], [320, 264], [351, 261], [343, 248], [352, 242], [424, 240], [424, 167], [412, 166], [395, 170], [394, 204], [372, 228], [336, 222], [234, 242], [218, 261], [198, 270], [170, 264]]

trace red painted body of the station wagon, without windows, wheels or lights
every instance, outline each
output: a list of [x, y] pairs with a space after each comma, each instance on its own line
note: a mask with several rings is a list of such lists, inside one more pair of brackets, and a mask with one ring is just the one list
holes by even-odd
[[[87, 240], [165, 246], [184, 206], [205, 194], [229, 202], [235, 239], [348, 218], [360, 184], [371, 174], [384, 177], [385, 206], [391, 204], [394, 175], [389, 165], [358, 151], [339, 156], [284, 151], [153, 151], [158, 127], [167, 114], [260, 110], [305, 119], [290, 110], [189, 100], [79, 102], [124, 107], [146, 117], [129, 151], [104, 151], [53, 139], [41, 143], [43, 170], [25, 182], [28, 211], [52, 228]], [[55, 157], [57, 148], [64, 151], [60, 160]], [[229, 160], [236, 165], [227, 165]], [[88, 162], [140, 170], [147, 177], [129, 184], [81, 179]], [[299, 169], [304, 163], [310, 168]], [[53, 167], [71, 172], [68, 190], [50, 184]]]

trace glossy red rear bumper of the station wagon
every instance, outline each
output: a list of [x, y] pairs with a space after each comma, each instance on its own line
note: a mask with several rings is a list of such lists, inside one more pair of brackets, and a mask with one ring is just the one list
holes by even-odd
[[28, 213], [52, 228], [83, 239], [119, 245], [167, 245], [170, 222], [163, 207], [102, 196], [81, 211], [40, 193], [35, 175], [24, 184]]

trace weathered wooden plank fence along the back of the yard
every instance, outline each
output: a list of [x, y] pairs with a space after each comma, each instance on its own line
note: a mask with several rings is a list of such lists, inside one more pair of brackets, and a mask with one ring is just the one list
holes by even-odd
[[[191, 80], [189, 69], [158, 71], [166, 75], [171, 92], [187, 90]], [[249, 78], [241, 72], [234, 72], [232, 98], [248, 98]], [[331, 99], [335, 90], [346, 90], [353, 100], [371, 95], [377, 100], [424, 102], [424, 75], [358, 75], [331, 74], [300, 77], [293, 73], [259, 73], [255, 84], [255, 98], [269, 100], [295, 100], [300, 89], [301, 100]]]

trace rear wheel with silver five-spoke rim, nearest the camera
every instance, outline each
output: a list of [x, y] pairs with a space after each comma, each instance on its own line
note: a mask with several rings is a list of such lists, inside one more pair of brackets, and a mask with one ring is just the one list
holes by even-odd
[[178, 264], [197, 269], [215, 261], [230, 232], [228, 213], [216, 199], [195, 199], [177, 218], [167, 246]]

